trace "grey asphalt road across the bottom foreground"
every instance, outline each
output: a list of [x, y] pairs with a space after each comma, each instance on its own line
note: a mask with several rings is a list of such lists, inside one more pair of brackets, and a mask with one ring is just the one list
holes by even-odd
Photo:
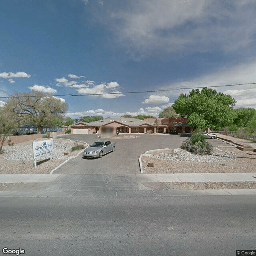
[[255, 196], [13, 197], [0, 205], [1, 250], [22, 248], [25, 256], [234, 256], [256, 249]]

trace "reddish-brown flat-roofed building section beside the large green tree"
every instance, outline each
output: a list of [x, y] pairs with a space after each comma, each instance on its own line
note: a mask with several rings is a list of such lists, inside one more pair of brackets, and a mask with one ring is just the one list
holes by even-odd
[[178, 133], [192, 132], [192, 128], [188, 126], [188, 118], [144, 118], [144, 121], [156, 122], [168, 126], [168, 131], [177, 130]]

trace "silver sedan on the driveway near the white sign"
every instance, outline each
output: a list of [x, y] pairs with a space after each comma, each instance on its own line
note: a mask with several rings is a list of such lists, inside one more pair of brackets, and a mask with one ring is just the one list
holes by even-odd
[[83, 152], [85, 157], [102, 158], [104, 154], [115, 151], [116, 142], [96, 141]]

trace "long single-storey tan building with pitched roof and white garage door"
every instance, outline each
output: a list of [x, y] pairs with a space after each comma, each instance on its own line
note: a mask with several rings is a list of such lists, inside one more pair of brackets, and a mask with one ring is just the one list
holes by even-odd
[[71, 126], [71, 134], [92, 133], [166, 133], [165, 124], [156, 124], [137, 118], [106, 118], [96, 122], [78, 122]]

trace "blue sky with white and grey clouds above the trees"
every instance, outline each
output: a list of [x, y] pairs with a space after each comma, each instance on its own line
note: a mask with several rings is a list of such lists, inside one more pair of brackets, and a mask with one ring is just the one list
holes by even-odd
[[255, 0], [1, 0], [0, 97], [61, 95], [71, 118], [158, 117], [213, 86], [256, 108], [255, 15]]

